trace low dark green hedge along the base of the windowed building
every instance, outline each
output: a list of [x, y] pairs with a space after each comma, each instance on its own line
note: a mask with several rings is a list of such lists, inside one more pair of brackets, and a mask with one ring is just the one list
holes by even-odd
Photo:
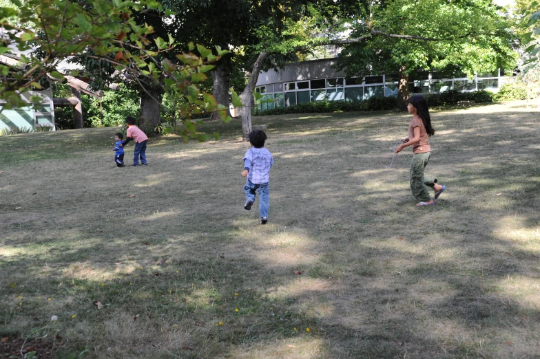
[[[459, 92], [450, 90], [441, 94], [425, 95], [430, 107], [457, 105], [458, 101], [473, 100], [477, 103], [493, 102], [497, 94], [490, 91]], [[349, 112], [349, 111], [381, 111], [392, 110], [397, 107], [395, 97], [375, 98], [364, 101], [315, 101], [304, 102], [278, 109], [253, 110], [253, 116], [286, 115], [288, 113], [323, 113], [323, 112]]]

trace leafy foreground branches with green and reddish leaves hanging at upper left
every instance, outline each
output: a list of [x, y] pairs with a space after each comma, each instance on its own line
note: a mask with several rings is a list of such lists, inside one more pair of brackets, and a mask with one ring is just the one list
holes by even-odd
[[[200, 93], [197, 83], [206, 79], [205, 72], [213, 69], [213, 63], [227, 54], [217, 48], [218, 55], [190, 43], [189, 52], [172, 53], [174, 64], [166, 56], [171, 54], [174, 39], [163, 40], [156, 36], [151, 26], [138, 25], [134, 14], [159, 13], [162, 8], [152, 0], [129, 1], [86, 0], [10, 0], [16, 8], [0, 7], [0, 54], [19, 55], [17, 64], [0, 63], [0, 100], [3, 108], [27, 105], [21, 94], [30, 89], [39, 89], [39, 81], [46, 76], [62, 79], [56, 66], [66, 58], [85, 57], [106, 64], [107, 71], [129, 76], [145, 89], [147, 84], [163, 81], [163, 89], [180, 91], [186, 98], [181, 111], [183, 128], [178, 131], [185, 137], [193, 135], [199, 140], [206, 138], [196, 134], [196, 122], [189, 113], [200, 108], [218, 109], [223, 120], [227, 120], [227, 109], [218, 107], [214, 96]], [[165, 12], [167, 15], [167, 12]], [[16, 21], [13, 21], [15, 19]], [[160, 61], [158, 61], [160, 60]], [[76, 76], [79, 72], [72, 72]], [[145, 89], [149, 96], [152, 93]], [[31, 100], [39, 102], [37, 96]]]

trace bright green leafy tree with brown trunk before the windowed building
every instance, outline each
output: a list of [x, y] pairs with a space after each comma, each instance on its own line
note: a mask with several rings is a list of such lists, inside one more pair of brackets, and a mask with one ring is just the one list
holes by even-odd
[[467, 76], [513, 69], [511, 23], [490, 0], [365, 1], [350, 19], [338, 67], [349, 76], [399, 72], [398, 100], [408, 99], [415, 69], [456, 68]]

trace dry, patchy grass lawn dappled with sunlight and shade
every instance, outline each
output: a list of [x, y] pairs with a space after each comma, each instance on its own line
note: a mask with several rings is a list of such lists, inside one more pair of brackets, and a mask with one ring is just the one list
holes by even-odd
[[429, 208], [410, 148], [384, 167], [410, 116], [254, 118], [267, 226], [237, 120], [146, 167], [116, 168], [116, 129], [0, 137], [0, 358], [537, 357], [540, 111], [432, 116]]

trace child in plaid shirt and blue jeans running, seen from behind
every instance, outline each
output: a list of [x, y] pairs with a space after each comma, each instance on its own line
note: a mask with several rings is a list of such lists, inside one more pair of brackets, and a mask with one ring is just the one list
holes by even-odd
[[270, 167], [273, 165], [273, 157], [270, 151], [264, 148], [267, 134], [264, 131], [255, 130], [249, 133], [251, 149], [244, 155], [244, 171], [242, 177], [247, 177], [244, 191], [246, 204], [244, 209], [250, 210], [255, 202], [255, 191], [259, 193], [259, 217], [260, 224], [268, 223], [269, 208], [269, 179]]

